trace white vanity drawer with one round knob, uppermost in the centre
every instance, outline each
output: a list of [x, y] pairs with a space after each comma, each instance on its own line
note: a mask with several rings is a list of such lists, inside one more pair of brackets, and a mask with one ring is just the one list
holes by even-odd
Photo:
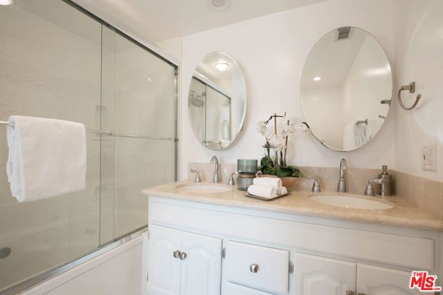
[[287, 294], [289, 251], [229, 241], [226, 278], [229, 282]]

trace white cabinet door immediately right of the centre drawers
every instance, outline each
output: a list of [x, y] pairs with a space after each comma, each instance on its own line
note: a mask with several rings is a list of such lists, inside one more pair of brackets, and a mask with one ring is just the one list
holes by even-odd
[[344, 295], [355, 292], [356, 264], [320, 256], [294, 255], [296, 295]]

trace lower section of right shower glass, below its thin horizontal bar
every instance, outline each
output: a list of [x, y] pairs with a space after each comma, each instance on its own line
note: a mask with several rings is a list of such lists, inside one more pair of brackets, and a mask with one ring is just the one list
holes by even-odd
[[147, 225], [142, 189], [174, 181], [174, 142], [116, 137], [114, 238]]

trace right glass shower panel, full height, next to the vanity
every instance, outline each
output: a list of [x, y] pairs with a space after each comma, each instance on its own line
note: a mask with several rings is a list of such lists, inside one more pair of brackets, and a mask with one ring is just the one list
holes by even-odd
[[114, 133], [102, 142], [104, 244], [147, 225], [142, 189], [174, 181], [177, 86], [167, 62], [109, 28], [102, 38], [102, 127]]

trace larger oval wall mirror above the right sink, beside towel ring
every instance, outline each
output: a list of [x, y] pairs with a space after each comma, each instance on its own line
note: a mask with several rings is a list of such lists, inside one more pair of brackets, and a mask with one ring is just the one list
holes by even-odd
[[329, 149], [352, 151], [372, 140], [391, 97], [388, 57], [365, 30], [332, 30], [309, 53], [300, 82], [302, 110], [311, 133]]

